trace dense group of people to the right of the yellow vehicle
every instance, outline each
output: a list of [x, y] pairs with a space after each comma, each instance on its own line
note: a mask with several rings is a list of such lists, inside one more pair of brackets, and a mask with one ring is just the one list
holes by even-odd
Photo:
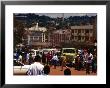
[[90, 50], [79, 51], [77, 58], [75, 59], [75, 69], [85, 70], [86, 74], [96, 73], [97, 71], [97, 56], [96, 51], [91, 52]]

